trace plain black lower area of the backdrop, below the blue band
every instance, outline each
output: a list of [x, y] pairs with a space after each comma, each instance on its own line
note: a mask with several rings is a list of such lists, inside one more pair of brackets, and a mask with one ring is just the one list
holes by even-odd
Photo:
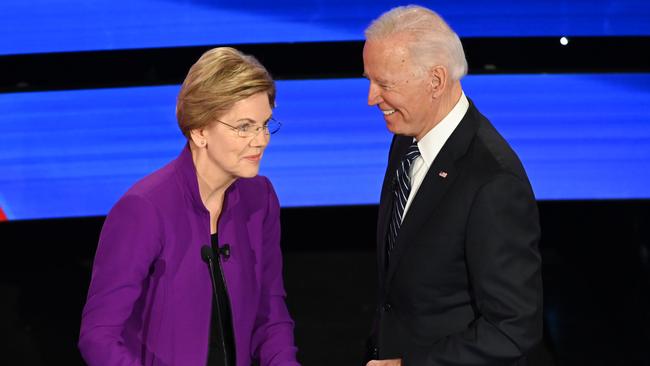
[[[374, 311], [377, 206], [282, 210], [304, 365], [359, 365]], [[540, 202], [546, 347], [559, 365], [650, 365], [650, 208]], [[103, 217], [0, 223], [0, 364], [82, 365], [79, 318]]]

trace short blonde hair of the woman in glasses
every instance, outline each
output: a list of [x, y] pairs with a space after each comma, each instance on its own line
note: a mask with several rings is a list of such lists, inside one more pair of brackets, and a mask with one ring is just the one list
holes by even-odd
[[205, 128], [240, 100], [265, 92], [275, 106], [275, 82], [253, 56], [231, 47], [204, 53], [185, 77], [176, 101], [176, 119], [183, 135]]

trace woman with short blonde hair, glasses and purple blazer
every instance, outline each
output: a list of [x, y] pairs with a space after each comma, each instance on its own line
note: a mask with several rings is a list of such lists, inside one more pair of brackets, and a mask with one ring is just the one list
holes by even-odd
[[[257, 176], [279, 129], [274, 102], [251, 56], [215, 48], [192, 66], [176, 108], [187, 145], [102, 228], [79, 339], [88, 364], [298, 365], [279, 204]], [[210, 243], [212, 269], [201, 257]]]

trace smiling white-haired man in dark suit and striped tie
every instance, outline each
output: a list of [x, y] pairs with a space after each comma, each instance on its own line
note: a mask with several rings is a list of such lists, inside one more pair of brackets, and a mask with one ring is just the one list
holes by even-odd
[[508, 143], [465, 96], [458, 36], [398, 7], [366, 30], [368, 104], [395, 134], [368, 366], [529, 365], [542, 338], [539, 219]]

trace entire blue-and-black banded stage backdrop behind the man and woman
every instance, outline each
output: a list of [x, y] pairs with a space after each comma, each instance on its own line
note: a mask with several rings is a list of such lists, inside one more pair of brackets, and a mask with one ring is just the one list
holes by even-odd
[[[650, 365], [650, 3], [424, 1], [463, 38], [467, 94], [521, 155], [559, 365]], [[390, 135], [363, 29], [394, 1], [0, 3], [0, 364], [81, 365], [104, 215], [182, 147], [178, 85], [232, 45], [278, 81], [263, 173], [282, 201], [299, 357], [358, 365]], [[345, 184], [344, 184], [345, 183]]]

